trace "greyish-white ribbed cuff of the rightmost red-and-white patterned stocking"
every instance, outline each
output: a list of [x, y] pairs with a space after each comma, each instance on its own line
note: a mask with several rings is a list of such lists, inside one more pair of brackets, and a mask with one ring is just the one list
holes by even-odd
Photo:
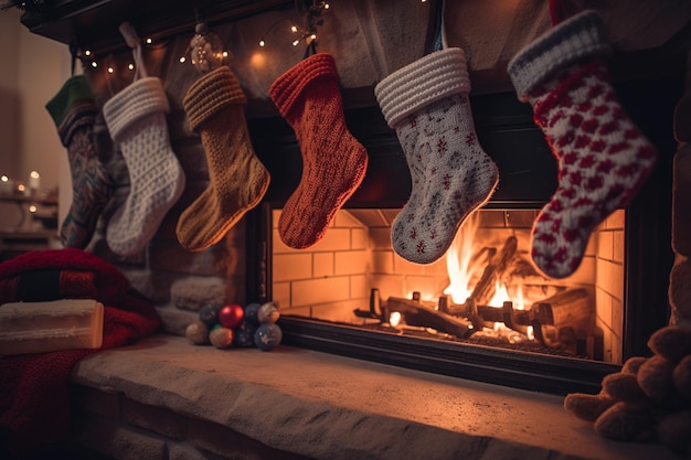
[[509, 75], [517, 94], [528, 94], [556, 72], [585, 58], [607, 54], [602, 19], [592, 10], [583, 11], [554, 26], [524, 47], [509, 62]]

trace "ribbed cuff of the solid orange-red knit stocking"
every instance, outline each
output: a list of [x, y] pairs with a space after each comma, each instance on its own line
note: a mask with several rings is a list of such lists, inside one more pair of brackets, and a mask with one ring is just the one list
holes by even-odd
[[319, 53], [290, 67], [274, 82], [268, 92], [280, 115], [286, 118], [300, 95], [311, 84], [323, 79], [333, 79], [337, 85], [340, 83], [333, 57]]

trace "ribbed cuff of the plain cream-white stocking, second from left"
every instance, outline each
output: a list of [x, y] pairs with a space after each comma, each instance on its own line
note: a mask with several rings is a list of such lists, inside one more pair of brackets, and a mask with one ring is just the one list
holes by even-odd
[[103, 107], [106, 126], [114, 140], [140, 118], [157, 111], [168, 113], [170, 106], [158, 77], [135, 81], [113, 96]]

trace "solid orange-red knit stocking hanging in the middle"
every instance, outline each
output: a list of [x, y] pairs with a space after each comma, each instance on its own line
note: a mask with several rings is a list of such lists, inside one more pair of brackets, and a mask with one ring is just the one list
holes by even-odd
[[278, 221], [280, 238], [296, 249], [323, 237], [366, 171], [368, 152], [346, 126], [339, 82], [333, 57], [320, 53], [291, 67], [269, 88], [302, 153], [300, 182]]

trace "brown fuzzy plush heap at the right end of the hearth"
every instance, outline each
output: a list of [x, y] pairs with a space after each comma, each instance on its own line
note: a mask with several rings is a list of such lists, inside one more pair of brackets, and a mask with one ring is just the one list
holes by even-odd
[[608, 439], [661, 442], [691, 458], [691, 329], [652, 334], [651, 357], [631, 357], [603, 378], [599, 394], [572, 393], [564, 407]]

